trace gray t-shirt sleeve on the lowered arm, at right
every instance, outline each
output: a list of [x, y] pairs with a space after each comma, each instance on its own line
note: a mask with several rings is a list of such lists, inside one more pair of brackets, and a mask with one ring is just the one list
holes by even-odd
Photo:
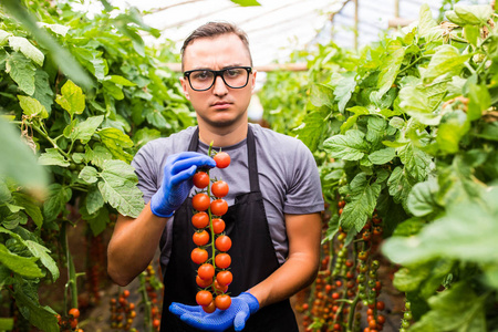
[[283, 212], [304, 215], [324, 210], [322, 187], [317, 162], [310, 149], [298, 142], [289, 175], [290, 187], [287, 193]]

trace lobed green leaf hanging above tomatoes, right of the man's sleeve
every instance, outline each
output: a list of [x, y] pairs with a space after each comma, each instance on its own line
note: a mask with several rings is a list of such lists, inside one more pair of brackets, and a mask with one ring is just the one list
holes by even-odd
[[369, 217], [375, 209], [378, 195], [381, 194], [381, 184], [370, 184], [365, 173], [356, 175], [350, 184], [350, 198], [342, 211], [340, 224], [347, 231], [354, 228], [362, 230]]

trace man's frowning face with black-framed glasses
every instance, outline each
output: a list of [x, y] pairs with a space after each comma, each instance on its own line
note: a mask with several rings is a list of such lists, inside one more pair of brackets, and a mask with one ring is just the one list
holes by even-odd
[[[229, 66], [250, 66], [249, 53], [242, 41], [232, 33], [195, 40], [184, 52], [184, 71], [215, 70]], [[220, 76], [207, 91], [195, 91], [181, 77], [186, 97], [196, 110], [199, 124], [228, 127], [247, 121], [247, 107], [255, 89], [256, 72], [249, 75], [245, 87], [231, 89]]]

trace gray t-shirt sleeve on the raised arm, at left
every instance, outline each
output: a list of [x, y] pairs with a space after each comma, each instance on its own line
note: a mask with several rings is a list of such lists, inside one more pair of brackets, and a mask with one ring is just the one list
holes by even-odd
[[135, 155], [132, 166], [138, 177], [138, 189], [144, 194], [144, 203], [147, 204], [151, 197], [158, 189], [157, 165], [154, 163], [154, 145], [146, 144]]

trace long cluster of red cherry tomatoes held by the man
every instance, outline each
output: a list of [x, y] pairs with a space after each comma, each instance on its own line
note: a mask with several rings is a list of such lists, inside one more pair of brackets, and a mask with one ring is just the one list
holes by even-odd
[[[214, 159], [218, 168], [230, 165], [230, 156], [225, 152], [216, 154]], [[224, 199], [228, 194], [228, 184], [224, 180], [214, 180], [211, 184], [209, 172], [200, 170], [194, 175], [194, 185], [201, 190], [193, 197], [196, 212], [191, 218], [197, 229], [193, 236], [197, 247], [190, 258], [199, 264], [196, 283], [200, 290], [196, 294], [196, 302], [205, 312], [211, 313], [216, 309], [226, 310], [231, 304], [231, 298], [227, 294], [234, 278], [228, 270], [231, 257], [227, 253], [231, 248], [231, 239], [224, 234], [225, 221], [221, 219], [228, 211], [228, 204]], [[209, 258], [209, 246], [214, 258]]]

